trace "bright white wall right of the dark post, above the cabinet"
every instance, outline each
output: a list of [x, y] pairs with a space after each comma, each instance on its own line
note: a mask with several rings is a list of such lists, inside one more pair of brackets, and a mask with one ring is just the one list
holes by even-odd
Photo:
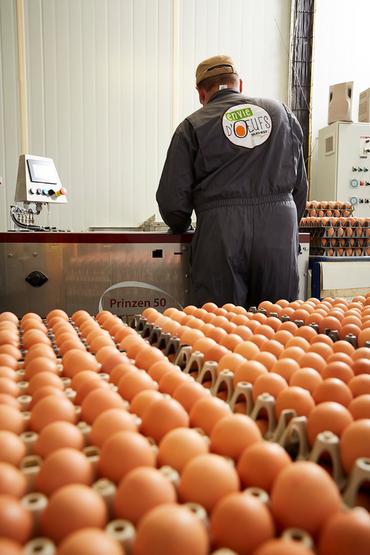
[[317, 180], [318, 134], [328, 124], [330, 85], [354, 81], [353, 121], [358, 121], [359, 94], [370, 87], [370, 2], [355, 0], [345, 7], [338, 9], [337, 0], [316, 0], [311, 140], [311, 179], [314, 183]]

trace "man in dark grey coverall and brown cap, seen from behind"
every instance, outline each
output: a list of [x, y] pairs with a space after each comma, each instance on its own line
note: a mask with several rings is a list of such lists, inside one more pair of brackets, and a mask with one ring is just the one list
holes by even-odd
[[196, 86], [203, 107], [176, 129], [157, 190], [174, 233], [196, 213], [192, 302], [296, 299], [307, 197], [301, 127], [284, 104], [242, 95], [228, 56], [201, 62]]

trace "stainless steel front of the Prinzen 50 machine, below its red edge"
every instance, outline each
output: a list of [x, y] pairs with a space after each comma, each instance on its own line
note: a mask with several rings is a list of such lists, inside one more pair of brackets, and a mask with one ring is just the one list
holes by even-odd
[[[18, 316], [46, 315], [56, 307], [68, 314], [81, 308], [96, 314], [100, 300], [119, 315], [189, 303], [187, 244], [0, 243], [0, 266], [0, 312]], [[25, 278], [33, 271], [48, 281], [31, 286]], [[127, 281], [141, 284], [107, 291]]]

